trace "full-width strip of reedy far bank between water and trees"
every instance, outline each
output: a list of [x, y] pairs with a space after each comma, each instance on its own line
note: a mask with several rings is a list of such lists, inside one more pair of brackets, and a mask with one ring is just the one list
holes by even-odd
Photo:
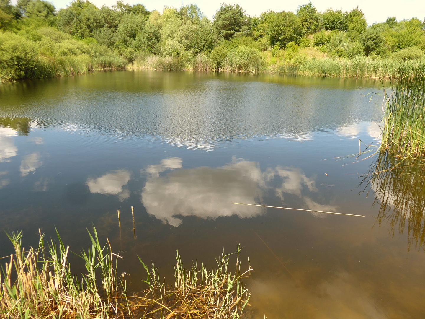
[[[235, 50], [238, 51], [238, 50]], [[394, 59], [374, 59], [371, 57], [332, 58], [310, 57], [303, 61], [266, 59], [261, 55], [246, 59], [236, 52], [226, 57], [217, 66], [208, 54], [194, 57], [161, 57], [149, 55], [128, 63], [120, 57], [90, 57], [88, 55], [58, 58], [37, 57], [32, 62], [26, 60], [20, 65], [11, 61], [11, 68], [0, 69], [0, 82], [19, 79], [40, 79], [86, 74], [96, 70], [151, 69], [163, 71], [224, 71], [248, 73], [292, 73], [317, 76], [389, 78], [394, 77], [400, 62]], [[409, 64], [418, 66], [425, 60], [413, 60]]]

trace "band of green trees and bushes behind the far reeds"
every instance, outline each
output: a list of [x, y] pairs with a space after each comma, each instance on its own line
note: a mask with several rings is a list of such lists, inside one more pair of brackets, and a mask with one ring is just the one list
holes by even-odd
[[16, 65], [24, 56], [46, 61], [84, 54], [96, 57], [100, 66], [111, 65], [111, 59], [116, 66], [147, 54], [178, 58], [207, 53], [220, 64], [229, 50], [242, 46], [272, 57], [285, 49], [314, 47], [330, 57], [404, 60], [422, 58], [425, 50], [425, 19], [389, 17], [368, 26], [358, 7], [320, 12], [312, 2], [295, 13], [267, 11], [259, 17], [250, 17], [238, 4], [221, 4], [210, 20], [196, 5], [166, 6], [159, 12], [121, 0], [101, 8], [75, 0], [56, 10], [44, 0], [18, 0], [16, 5], [0, 0], [0, 30], [3, 74], [11, 67], [7, 60]]

